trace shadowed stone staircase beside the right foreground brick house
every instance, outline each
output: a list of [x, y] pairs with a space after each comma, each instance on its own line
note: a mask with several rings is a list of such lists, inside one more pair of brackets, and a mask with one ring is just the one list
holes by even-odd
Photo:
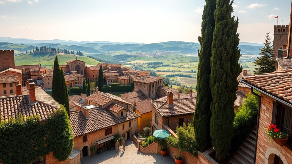
[[256, 146], [256, 129], [246, 138], [228, 164], [253, 164]]

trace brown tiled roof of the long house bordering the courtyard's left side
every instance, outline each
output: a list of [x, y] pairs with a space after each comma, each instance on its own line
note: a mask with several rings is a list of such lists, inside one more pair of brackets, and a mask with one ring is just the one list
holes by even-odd
[[74, 137], [78, 137], [103, 128], [130, 121], [138, 117], [138, 114], [127, 110], [124, 117], [118, 118], [107, 109], [95, 107], [88, 109], [88, 119], [85, 118], [81, 111], [71, 112], [70, 124], [72, 126]]

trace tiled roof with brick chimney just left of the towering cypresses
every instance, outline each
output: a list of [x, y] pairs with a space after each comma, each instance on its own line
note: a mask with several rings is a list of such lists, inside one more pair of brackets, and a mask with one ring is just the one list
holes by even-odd
[[151, 104], [162, 117], [192, 114], [195, 112], [196, 97], [173, 99], [173, 105], [168, 105], [167, 100], [155, 100]]

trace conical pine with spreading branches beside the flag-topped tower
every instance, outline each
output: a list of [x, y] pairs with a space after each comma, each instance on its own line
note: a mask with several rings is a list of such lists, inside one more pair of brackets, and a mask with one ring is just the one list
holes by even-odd
[[272, 60], [273, 48], [270, 33], [265, 38], [265, 46], [260, 49], [260, 57], [253, 63], [256, 64], [255, 74], [270, 73], [276, 71], [276, 61]]

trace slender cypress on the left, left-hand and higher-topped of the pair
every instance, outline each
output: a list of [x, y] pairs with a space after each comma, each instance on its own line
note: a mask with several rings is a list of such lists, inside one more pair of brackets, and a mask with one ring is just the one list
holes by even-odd
[[53, 70], [53, 82], [52, 82], [52, 97], [58, 103], [62, 101], [62, 96], [60, 96], [60, 91], [63, 89], [62, 81], [60, 79], [60, 66], [58, 62], [58, 57], [56, 55], [54, 61], [54, 70]]

